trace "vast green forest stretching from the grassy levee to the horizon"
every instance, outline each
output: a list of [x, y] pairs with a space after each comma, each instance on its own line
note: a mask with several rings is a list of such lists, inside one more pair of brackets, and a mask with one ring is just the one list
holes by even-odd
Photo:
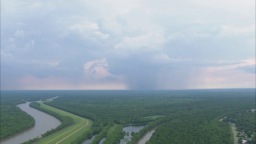
[[[72, 144], [81, 144], [97, 134], [93, 144], [98, 144], [102, 138], [106, 138], [104, 144], [119, 144], [125, 135], [122, 128], [127, 124], [147, 124], [132, 133], [128, 144], [136, 144], [143, 134], [156, 126], [147, 144], [233, 144], [231, 126], [225, 120], [220, 121], [221, 118], [243, 114], [243, 118], [250, 120], [236, 123], [241, 128], [244, 125], [255, 127], [255, 116], [246, 115], [248, 110], [255, 109], [255, 89], [64, 90], [45, 96], [59, 97], [44, 104], [94, 121], [92, 128]], [[32, 100], [37, 96], [26, 98]], [[162, 117], [145, 118], [154, 115]], [[255, 128], [249, 131], [255, 137]]]

